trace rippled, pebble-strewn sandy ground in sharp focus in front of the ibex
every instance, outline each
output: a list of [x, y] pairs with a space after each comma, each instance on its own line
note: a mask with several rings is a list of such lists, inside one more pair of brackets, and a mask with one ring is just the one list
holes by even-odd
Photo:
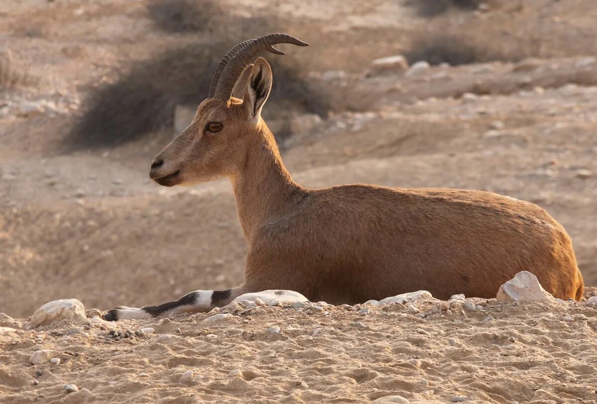
[[[19, 321], [0, 334], [0, 402], [597, 402], [593, 305], [467, 301], [478, 309], [451, 303], [446, 314], [446, 303], [426, 298], [420, 314], [404, 304], [363, 306], [366, 316], [322, 305], [259, 307], [216, 325], [203, 313], [122, 320], [118, 331], [155, 334], [116, 343], [104, 342], [100, 323], [26, 331]], [[281, 333], [270, 334], [276, 325]], [[39, 349], [61, 362], [30, 365]]]

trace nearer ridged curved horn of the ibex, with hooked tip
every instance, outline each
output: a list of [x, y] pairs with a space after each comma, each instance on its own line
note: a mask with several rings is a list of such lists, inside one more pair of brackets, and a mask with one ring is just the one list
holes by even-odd
[[[247, 41], [245, 41], [247, 42]], [[242, 43], [242, 42], [241, 42]], [[247, 67], [247, 64], [259, 53], [261, 50], [267, 50], [275, 54], [284, 54], [277, 50], [272, 45], [275, 44], [293, 44], [299, 47], [308, 47], [307, 42], [303, 42], [294, 36], [287, 35], [285, 33], [272, 33], [270, 35], [261, 36], [260, 38], [253, 39], [245, 47], [236, 53], [232, 59], [226, 64], [220, 75], [220, 80], [216, 85], [216, 91], [214, 92], [213, 98], [220, 98], [221, 100], [229, 100], [232, 95], [232, 90], [238, 79], [238, 76], [242, 73], [242, 70]]]

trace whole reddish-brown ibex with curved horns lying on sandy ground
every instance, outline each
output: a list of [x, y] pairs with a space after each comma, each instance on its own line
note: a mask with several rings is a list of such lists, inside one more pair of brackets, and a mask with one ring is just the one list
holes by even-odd
[[[528, 270], [556, 297], [580, 300], [583, 279], [564, 228], [532, 203], [490, 192], [344, 185], [306, 189], [282, 164], [261, 108], [272, 70], [261, 50], [307, 46], [290, 35], [241, 42], [217, 68], [193, 122], [154, 159], [163, 186], [228, 177], [249, 246], [245, 280], [107, 320], [201, 312], [247, 292], [291, 289], [312, 301], [358, 303], [426, 289], [491, 298]], [[235, 87], [236, 85], [236, 87]], [[239, 97], [232, 97], [238, 94]]]

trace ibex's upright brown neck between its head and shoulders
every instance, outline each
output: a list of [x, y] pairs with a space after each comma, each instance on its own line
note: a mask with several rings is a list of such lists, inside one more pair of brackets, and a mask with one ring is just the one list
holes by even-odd
[[244, 168], [230, 178], [247, 242], [260, 226], [293, 211], [306, 193], [290, 177], [272, 133], [262, 124], [249, 147]]

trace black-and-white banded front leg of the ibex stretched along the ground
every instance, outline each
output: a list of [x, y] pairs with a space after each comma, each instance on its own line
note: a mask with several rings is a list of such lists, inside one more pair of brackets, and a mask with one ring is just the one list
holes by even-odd
[[226, 306], [236, 297], [250, 292], [244, 286], [225, 291], [194, 291], [179, 300], [159, 304], [158, 306], [136, 307], [118, 306], [104, 315], [104, 320], [137, 320], [159, 316], [172, 316], [180, 313], [209, 312], [214, 307]]

